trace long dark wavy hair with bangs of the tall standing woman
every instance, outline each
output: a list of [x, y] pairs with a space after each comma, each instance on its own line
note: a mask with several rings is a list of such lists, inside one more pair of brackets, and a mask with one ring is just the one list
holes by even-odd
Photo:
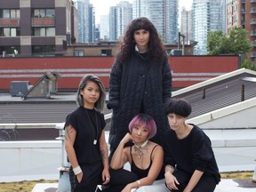
[[126, 28], [123, 39], [117, 44], [116, 49], [116, 62], [124, 64], [130, 58], [132, 53], [135, 52], [135, 40], [133, 38], [136, 30], [145, 29], [149, 32], [148, 52], [151, 60], [158, 60], [159, 63], [166, 55], [164, 44], [160, 39], [155, 26], [148, 20], [148, 18], [141, 17], [132, 20], [130, 25]]

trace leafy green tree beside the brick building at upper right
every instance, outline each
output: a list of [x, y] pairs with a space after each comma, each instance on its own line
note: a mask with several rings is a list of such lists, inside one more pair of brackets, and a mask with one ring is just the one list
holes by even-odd
[[208, 33], [207, 49], [208, 54], [245, 54], [252, 50], [246, 30], [241, 26], [231, 28], [229, 36], [226, 36], [221, 30]]

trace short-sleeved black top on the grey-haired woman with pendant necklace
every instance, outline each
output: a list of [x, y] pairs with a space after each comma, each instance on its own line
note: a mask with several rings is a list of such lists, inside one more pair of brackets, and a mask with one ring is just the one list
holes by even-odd
[[[100, 135], [106, 126], [103, 114], [95, 109], [79, 107], [67, 116], [64, 127], [69, 124], [76, 129], [74, 148], [78, 164], [93, 164], [101, 161]], [[96, 145], [93, 144], [94, 140], [97, 140]]]

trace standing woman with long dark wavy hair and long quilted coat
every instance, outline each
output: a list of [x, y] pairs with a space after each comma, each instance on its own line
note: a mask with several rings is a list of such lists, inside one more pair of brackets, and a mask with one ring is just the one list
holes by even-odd
[[172, 73], [164, 44], [147, 18], [132, 20], [117, 45], [116, 61], [109, 80], [108, 108], [113, 108], [109, 144], [110, 158], [139, 113], [150, 114], [157, 133], [152, 139], [162, 145], [168, 130], [164, 102], [172, 94]]

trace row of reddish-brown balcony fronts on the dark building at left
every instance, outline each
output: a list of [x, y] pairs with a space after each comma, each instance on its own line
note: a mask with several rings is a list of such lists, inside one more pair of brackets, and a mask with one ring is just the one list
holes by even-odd
[[[55, 19], [54, 18], [32, 18], [31, 19], [32, 27], [54, 27]], [[0, 28], [3, 27], [20, 27], [20, 19], [0, 19]]]

